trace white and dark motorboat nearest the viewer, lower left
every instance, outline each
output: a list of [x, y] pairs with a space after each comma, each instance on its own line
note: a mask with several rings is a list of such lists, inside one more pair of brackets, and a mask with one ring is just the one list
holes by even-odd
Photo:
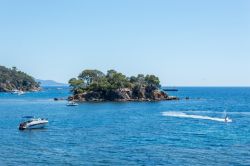
[[49, 121], [43, 118], [34, 118], [32, 116], [23, 117], [26, 118], [24, 122], [20, 123], [19, 130], [26, 130], [26, 129], [41, 129], [44, 128]]

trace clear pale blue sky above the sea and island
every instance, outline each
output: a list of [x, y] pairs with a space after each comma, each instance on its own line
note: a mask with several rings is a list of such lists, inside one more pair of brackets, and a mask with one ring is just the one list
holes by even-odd
[[63, 83], [115, 69], [250, 86], [250, 1], [0, 0], [0, 65]]

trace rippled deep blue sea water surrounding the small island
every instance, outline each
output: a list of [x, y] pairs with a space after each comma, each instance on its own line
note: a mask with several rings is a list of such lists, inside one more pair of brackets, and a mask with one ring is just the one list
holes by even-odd
[[[67, 107], [53, 101], [66, 98], [67, 88], [1, 93], [0, 165], [250, 165], [250, 88], [170, 94], [190, 100]], [[223, 118], [225, 110], [232, 123], [199, 118]], [[49, 125], [19, 131], [26, 115], [48, 118]]]

